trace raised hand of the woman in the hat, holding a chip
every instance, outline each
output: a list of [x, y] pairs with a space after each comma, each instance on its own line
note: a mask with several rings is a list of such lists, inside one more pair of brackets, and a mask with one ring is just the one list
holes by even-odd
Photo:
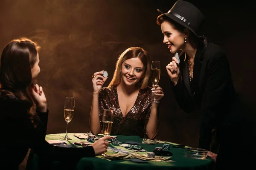
[[180, 68], [177, 66], [178, 60], [175, 57], [172, 57], [172, 62], [170, 62], [166, 66], [167, 73], [171, 79], [171, 81], [174, 83], [174, 85], [177, 84], [179, 80], [179, 74], [180, 74]]

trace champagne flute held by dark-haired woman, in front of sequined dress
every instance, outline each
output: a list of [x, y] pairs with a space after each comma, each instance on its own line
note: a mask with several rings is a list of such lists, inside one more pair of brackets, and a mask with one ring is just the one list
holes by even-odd
[[110, 109], [104, 109], [103, 117], [103, 134], [104, 136], [110, 136], [111, 129], [112, 129], [112, 123], [113, 123], [113, 110]]

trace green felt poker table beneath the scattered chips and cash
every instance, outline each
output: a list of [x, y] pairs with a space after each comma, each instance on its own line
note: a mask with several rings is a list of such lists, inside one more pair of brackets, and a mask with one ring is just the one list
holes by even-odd
[[[46, 140], [61, 140], [60, 138], [65, 136], [65, 133], [58, 133], [58, 134], [48, 134], [46, 135]], [[68, 133], [68, 136], [72, 139], [68, 141], [68, 143], [73, 142], [82, 142], [86, 141], [86, 139], [79, 139], [74, 136], [74, 133]], [[139, 136], [122, 136], [122, 135], [114, 135], [117, 136], [119, 142], [126, 142], [126, 141], [133, 141], [142, 143], [143, 138]], [[154, 162], [154, 161], [147, 161], [147, 163], [139, 163], [133, 162], [129, 159], [125, 160], [107, 160], [102, 159], [101, 156], [96, 157], [84, 157], [80, 160], [72, 163], [68, 160], [65, 161], [54, 161], [52, 162], [53, 169], [63, 169], [61, 167], [67, 167], [69, 169], [74, 170], [212, 170], [214, 168], [214, 161], [207, 157], [204, 159], [195, 159], [195, 158], [188, 158], [184, 154], [183, 148], [175, 148], [172, 147], [177, 145], [172, 142], [165, 142], [170, 144], [170, 152], [172, 155], [173, 162]], [[127, 150], [124, 147], [109, 144], [111, 147], [116, 147], [122, 150]], [[138, 154], [145, 154], [147, 152], [152, 152], [155, 147], [163, 147], [163, 144], [140, 144], [139, 146], [143, 147], [146, 150], [144, 153]], [[115, 152], [108, 150], [108, 154], [113, 154]], [[67, 156], [68, 157], [68, 156]], [[34, 156], [33, 160], [33, 169], [39, 169], [37, 166], [38, 156]]]

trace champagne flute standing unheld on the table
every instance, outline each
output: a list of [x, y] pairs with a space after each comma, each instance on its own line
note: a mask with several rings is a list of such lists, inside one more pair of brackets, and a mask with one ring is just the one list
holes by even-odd
[[[65, 104], [64, 104], [64, 118], [67, 122], [67, 125], [73, 118], [74, 110], [75, 110], [75, 98], [74, 97], [66, 97]], [[67, 128], [66, 128], [66, 135], [61, 139], [71, 140], [67, 136]]]

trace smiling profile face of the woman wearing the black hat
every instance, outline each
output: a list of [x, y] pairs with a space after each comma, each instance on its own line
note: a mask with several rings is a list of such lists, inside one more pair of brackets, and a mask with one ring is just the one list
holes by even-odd
[[175, 53], [180, 49], [184, 49], [184, 37], [187, 37], [188, 35], [175, 29], [174, 26], [168, 21], [164, 21], [161, 24], [161, 30], [164, 35], [163, 43], [168, 45], [171, 53]]

